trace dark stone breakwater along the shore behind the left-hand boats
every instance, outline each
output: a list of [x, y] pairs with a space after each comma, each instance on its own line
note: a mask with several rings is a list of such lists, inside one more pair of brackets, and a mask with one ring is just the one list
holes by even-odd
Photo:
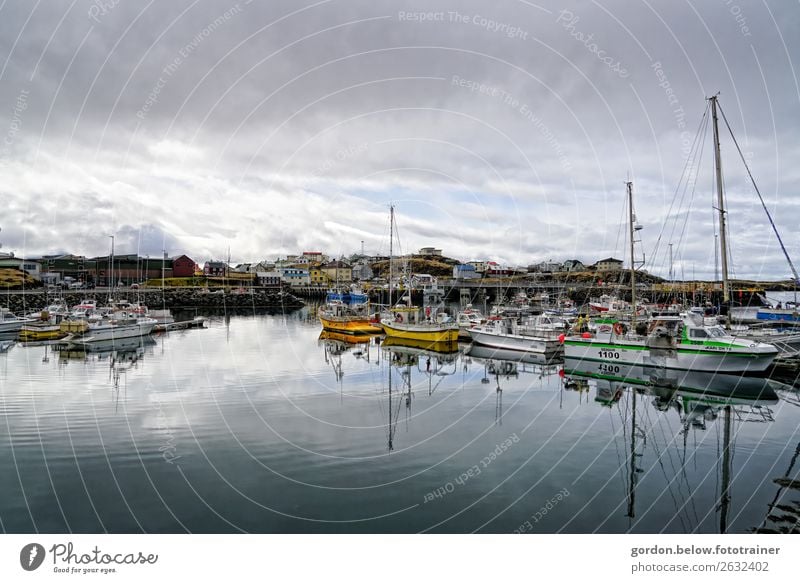
[[[0, 306], [8, 308], [15, 314], [24, 314], [41, 310], [52, 303], [56, 296], [45, 294], [43, 291], [8, 294], [0, 296]], [[97, 300], [98, 305], [104, 305], [108, 300], [108, 293], [94, 290], [82, 292], [68, 292], [61, 297], [68, 306], [79, 304], [82, 300]], [[305, 304], [300, 298], [287, 293], [272, 290], [252, 290], [247, 293], [217, 293], [197, 289], [165, 289], [165, 290], [133, 290], [115, 292], [115, 298], [126, 299], [130, 302], [140, 302], [153, 309], [162, 308], [207, 308], [207, 309], [237, 309], [270, 308], [276, 310], [294, 310]]]

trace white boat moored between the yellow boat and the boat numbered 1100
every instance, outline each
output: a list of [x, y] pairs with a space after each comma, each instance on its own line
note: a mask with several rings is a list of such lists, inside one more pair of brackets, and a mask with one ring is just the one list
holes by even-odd
[[522, 323], [510, 318], [490, 319], [468, 332], [474, 342], [484, 346], [548, 354], [561, 350], [560, 337], [568, 330], [569, 324], [563, 318], [542, 315]]

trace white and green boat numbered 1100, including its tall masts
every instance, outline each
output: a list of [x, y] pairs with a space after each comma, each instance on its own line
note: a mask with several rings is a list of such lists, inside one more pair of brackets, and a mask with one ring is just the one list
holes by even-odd
[[[717, 188], [722, 205], [722, 182], [717, 128], [716, 97], [711, 98]], [[651, 366], [707, 372], [761, 372], [778, 355], [778, 349], [753, 339], [738, 338], [722, 326], [705, 324], [702, 315], [659, 314], [637, 324], [635, 232], [641, 227], [633, 211], [633, 183], [626, 182], [630, 241], [630, 283], [633, 307], [630, 326], [617, 318], [606, 319], [595, 332], [572, 334], [564, 339], [564, 357], [596, 363], [598, 371], [618, 370], [620, 365]], [[720, 237], [725, 249], [724, 210], [720, 211]], [[727, 256], [723, 251], [724, 298], [729, 301]]]

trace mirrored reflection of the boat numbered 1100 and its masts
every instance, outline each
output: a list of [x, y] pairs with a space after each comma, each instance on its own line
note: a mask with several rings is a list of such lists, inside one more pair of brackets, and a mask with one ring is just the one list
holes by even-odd
[[[669, 462], [675, 467], [670, 449], [681, 446], [680, 464], [675, 469], [680, 475], [668, 480], [668, 495], [676, 505], [675, 520], [687, 531], [699, 528], [701, 519], [694, 511], [692, 497], [697, 488], [690, 485], [687, 468], [697, 463], [696, 452], [687, 452], [690, 434], [703, 432], [712, 424], [722, 423], [723, 443], [717, 457], [719, 489], [715, 492], [715, 512], [718, 532], [728, 531], [731, 512], [731, 486], [733, 477], [739, 477], [742, 468], [732, 473], [735, 438], [744, 423], [771, 423], [773, 410], [779, 399], [776, 391], [791, 391], [788, 385], [766, 378], [700, 373], [641, 366], [609, 366], [606, 363], [567, 358], [564, 362], [564, 382], [569, 388], [591, 388], [594, 385], [595, 402], [616, 409], [626, 431], [615, 434], [621, 438], [627, 459], [624, 462], [627, 486], [627, 514], [633, 526], [636, 517], [636, 486], [650, 472], [665, 471]], [[665, 434], [658, 418], [653, 419], [639, 400], [650, 401], [653, 408], [664, 414], [675, 413], [680, 420], [680, 433]], [[656, 427], [651, 427], [657, 426]], [[665, 443], [658, 443], [663, 438]], [[698, 441], [691, 440], [697, 447]], [[648, 449], [656, 460], [647, 467]], [[617, 446], [619, 447], [619, 445]], [[664, 458], [669, 459], [664, 459]], [[744, 460], [746, 462], [747, 460]], [[658, 469], [660, 468], [660, 469]], [[705, 478], [703, 478], [705, 479]], [[702, 482], [702, 480], [701, 480]], [[681, 504], [680, 498], [685, 498]], [[690, 511], [691, 509], [691, 511]], [[649, 509], [648, 509], [649, 510]], [[692, 522], [695, 526], [691, 527]]]

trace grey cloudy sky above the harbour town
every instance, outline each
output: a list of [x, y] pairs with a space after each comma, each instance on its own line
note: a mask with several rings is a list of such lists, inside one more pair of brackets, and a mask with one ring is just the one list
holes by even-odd
[[[0, 243], [385, 253], [392, 202], [404, 251], [594, 262], [630, 179], [647, 268], [711, 276], [719, 92], [800, 256], [799, 56], [794, 1], [0, 0]], [[722, 129], [732, 272], [788, 277]]]

